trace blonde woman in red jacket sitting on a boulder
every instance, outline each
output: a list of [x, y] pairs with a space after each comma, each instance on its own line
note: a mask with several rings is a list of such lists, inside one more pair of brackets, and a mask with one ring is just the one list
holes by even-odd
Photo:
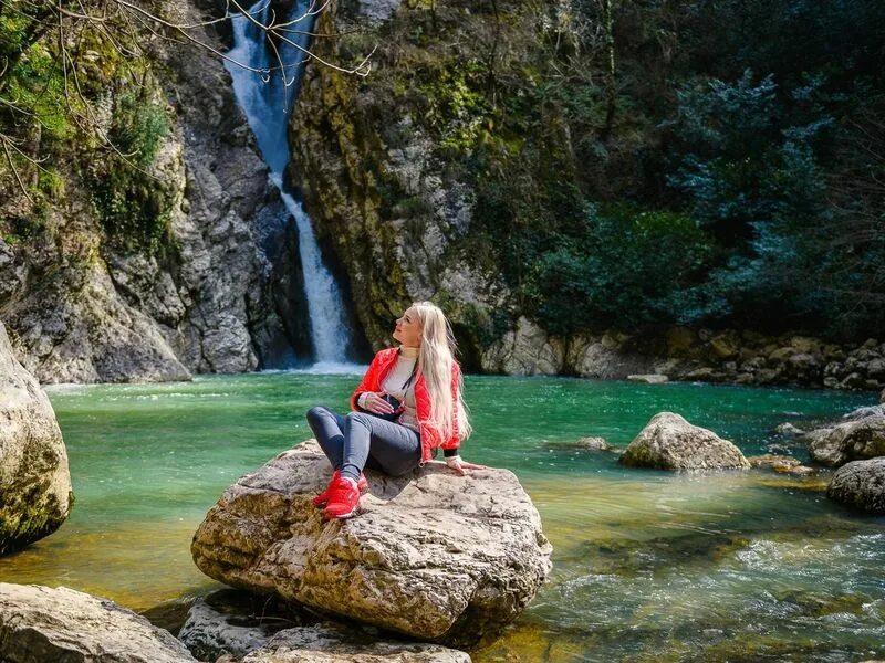
[[458, 474], [485, 470], [461, 460], [458, 446], [470, 434], [461, 398], [461, 370], [446, 316], [429, 302], [413, 304], [396, 320], [398, 348], [381, 350], [351, 397], [353, 412], [329, 408], [308, 412], [308, 423], [334, 467], [314, 497], [323, 517], [348, 518], [367, 490], [363, 469], [398, 476], [431, 460], [442, 448]]

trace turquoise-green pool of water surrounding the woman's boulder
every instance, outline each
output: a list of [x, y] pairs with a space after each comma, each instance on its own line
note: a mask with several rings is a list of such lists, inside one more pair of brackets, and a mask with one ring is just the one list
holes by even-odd
[[[206, 377], [53, 388], [76, 505], [0, 560], [0, 581], [65, 585], [135, 610], [216, 587], [190, 537], [238, 476], [309, 436], [312, 404], [345, 409], [356, 378]], [[580, 451], [625, 446], [676, 411], [746, 454], [801, 448], [784, 421], [832, 419], [872, 394], [468, 377], [465, 456], [513, 470], [554, 545], [527, 612], [475, 661], [862, 661], [885, 656], [885, 518], [825, 499], [827, 476], [628, 470]]]

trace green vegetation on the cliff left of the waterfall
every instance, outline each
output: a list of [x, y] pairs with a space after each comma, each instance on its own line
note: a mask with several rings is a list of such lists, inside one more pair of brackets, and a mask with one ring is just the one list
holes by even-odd
[[[83, 189], [108, 246], [156, 252], [167, 244], [174, 191], [153, 166], [170, 122], [144, 49], [146, 31], [118, 11], [101, 14], [100, 4], [0, 7], [7, 243], [51, 240], [48, 212], [70, 207]], [[90, 12], [104, 20], [83, 20]]]

